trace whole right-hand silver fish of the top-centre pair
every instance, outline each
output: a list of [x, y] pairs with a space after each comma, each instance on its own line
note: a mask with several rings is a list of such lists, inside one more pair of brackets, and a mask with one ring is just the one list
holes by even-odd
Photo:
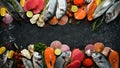
[[57, 3], [58, 3], [58, 7], [56, 10], [56, 17], [57, 19], [60, 19], [67, 10], [67, 2], [66, 0], [58, 0]]

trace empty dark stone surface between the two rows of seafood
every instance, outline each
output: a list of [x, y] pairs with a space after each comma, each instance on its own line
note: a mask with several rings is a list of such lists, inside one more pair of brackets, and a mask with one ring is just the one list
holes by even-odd
[[[120, 52], [120, 15], [111, 23], [103, 25], [97, 31], [92, 31], [91, 23], [81, 21], [80, 24], [67, 24], [64, 26], [46, 26], [39, 28], [36, 25], [28, 23], [13, 22], [15, 27], [9, 30], [11, 35], [16, 38], [15, 42], [19, 46], [26, 47], [29, 44], [43, 42], [48, 46], [54, 40], [59, 40], [68, 44], [71, 49], [83, 49], [88, 43], [103, 42]], [[0, 30], [5, 29], [0, 25]], [[0, 44], [7, 42], [5, 31], [0, 33]]]

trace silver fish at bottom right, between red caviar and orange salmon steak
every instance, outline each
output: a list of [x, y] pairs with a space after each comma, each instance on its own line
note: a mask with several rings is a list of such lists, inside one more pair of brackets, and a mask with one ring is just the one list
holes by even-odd
[[102, 53], [94, 52], [92, 53], [92, 58], [99, 68], [112, 68], [111, 64]]

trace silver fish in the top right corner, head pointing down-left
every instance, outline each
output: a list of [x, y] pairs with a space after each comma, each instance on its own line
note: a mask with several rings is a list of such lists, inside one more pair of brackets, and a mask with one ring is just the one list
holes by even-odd
[[113, 21], [120, 13], [120, 1], [113, 4], [106, 12], [106, 23]]

